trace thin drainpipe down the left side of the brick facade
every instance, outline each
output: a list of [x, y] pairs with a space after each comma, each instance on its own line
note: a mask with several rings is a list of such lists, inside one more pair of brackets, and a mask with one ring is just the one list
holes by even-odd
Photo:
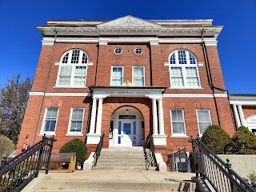
[[36, 128], [35, 128], [35, 132], [34, 132], [34, 138], [33, 138], [33, 142], [32, 142], [32, 145], [34, 145], [34, 141], [35, 141], [35, 138], [36, 138], [36, 134], [38, 132], [38, 124], [39, 124], [39, 120], [40, 120], [40, 117], [42, 115], [42, 106], [43, 106], [43, 103], [45, 101], [45, 97], [46, 97], [46, 89], [47, 89], [47, 86], [48, 86], [48, 82], [49, 82], [49, 78], [50, 78], [50, 71], [51, 71], [51, 66], [53, 61], [54, 61], [54, 53], [55, 53], [55, 47], [56, 47], [56, 38], [57, 38], [57, 31], [56, 31], [56, 28], [54, 27], [54, 31], [55, 31], [55, 35], [54, 35], [54, 46], [53, 46], [53, 51], [52, 51], [52, 54], [51, 54], [51, 58], [50, 58], [50, 63], [49, 63], [49, 71], [48, 71], [48, 74], [47, 74], [47, 78], [46, 78], [46, 85], [45, 85], [45, 88], [43, 90], [43, 95], [42, 95], [42, 102], [41, 102], [41, 105], [40, 105], [40, 110], [39, 110], [39, 114], [38, 114], [38, 120], [37, 120], [37, 123], [36, 123]]

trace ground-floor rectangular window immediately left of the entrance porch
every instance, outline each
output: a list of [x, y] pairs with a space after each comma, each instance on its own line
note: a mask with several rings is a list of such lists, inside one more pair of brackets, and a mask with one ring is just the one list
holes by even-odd
[[84, 116], [84, 108], [72, 108], [70, 114], [70, 133], [82, 133], [82, 122]]

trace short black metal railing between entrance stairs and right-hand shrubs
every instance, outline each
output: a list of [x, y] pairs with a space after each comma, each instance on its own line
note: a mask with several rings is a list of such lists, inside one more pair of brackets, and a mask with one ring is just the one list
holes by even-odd
[[168, 154], [167, 165], [171, 171], [187, 172], [188, 158], [186, 148]]

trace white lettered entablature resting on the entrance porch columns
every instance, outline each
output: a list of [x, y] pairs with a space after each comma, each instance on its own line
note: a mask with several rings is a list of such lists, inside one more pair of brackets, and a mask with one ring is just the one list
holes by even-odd
[[127, 87], [127, 86], [90, 86], [90, 90], [95, 94], [107, 95], [110, 97], [148, 97], [151, 95], [161, 95], [166, 87]]

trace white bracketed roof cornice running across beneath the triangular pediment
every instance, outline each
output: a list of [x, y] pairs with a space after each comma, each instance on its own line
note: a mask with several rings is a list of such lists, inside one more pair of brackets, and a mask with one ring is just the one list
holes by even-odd
[[102, 36], [102, 35], [151, 35], [159, 37], [214, 37], [222, 26], [38, 26], [42, 37], [54, 36]]

